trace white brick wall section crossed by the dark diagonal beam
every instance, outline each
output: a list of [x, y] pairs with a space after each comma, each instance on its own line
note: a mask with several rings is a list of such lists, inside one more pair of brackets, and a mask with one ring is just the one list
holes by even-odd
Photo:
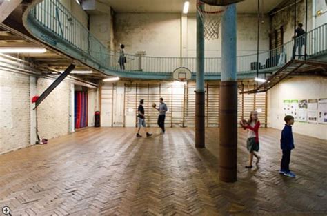
[[[37, 79], [39, 95], [52, 84], [53, 80]], [[39, 137], [51, 139], [69, 132], [70, 84], [63, 81], [37, 108]]]

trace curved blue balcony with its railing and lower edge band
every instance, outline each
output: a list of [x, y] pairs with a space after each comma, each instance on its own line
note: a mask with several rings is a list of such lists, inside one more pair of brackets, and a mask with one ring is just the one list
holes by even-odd
[[[59, 1], [42, 1], [30, 6], [27, 10], [24, 26], [34, 37], [77, 59], [86, 66], [99, 70], [107, 75], [139, 79], [171, 79], [172, 71], [184, 66], [196, 71], [194, 57], [148, 57], [142, 55], [126, 55], [126, 70], [119, 68], [119, 53], [109, 51], [92, 35]], [[327, 24], [319, 26], [307, 33], [306, 53], [308, 58], [327, 52]], [[77, 37], [78, 35], [78, 37]], [[293, 54], [294, 40], [284, 45], [259, 53], [237, 57], [237, 77], [253, 78], [257, 67], [259, 73], [272, 73], [290, 61]], [[304, 53], [304, 46], [303, 51]], [[220, 79], [221, 58], [205, 59], [205, 79]]]

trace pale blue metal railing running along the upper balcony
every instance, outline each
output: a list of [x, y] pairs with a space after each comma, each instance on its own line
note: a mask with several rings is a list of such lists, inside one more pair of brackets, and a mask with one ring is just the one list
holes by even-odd
[[[119, 52], [112, 52], [106, 48], [90, 31], [79, 22], [74, 15], [67, 10], [57, 0], [46, 0], [32, 8], [30, 16], [37, 21], [43, 28], [46, 28], [59, 39], [68, 43], [85, 57], [97, 62], [102, 68], [108, 70], [121, 70], [119, 66]], [[304, 54], [305, 44], [307, 57], [320, 55], [327, 52], [327, 23], [310, 30], [306, 36], [303, 35], [297, 39], [292, 39], [282, 46], [273, 50], [259, 53], [259, 62], [257, 63], [257, 54], [242, 55], [237, 57], [237, 73], [242, 74], [257, 70], [273, 70], [283, 66], [293, 57], [299, 55], [299, 46], [301, 53]], [[305, 40], [306, 37], [306, 40]], [[301, 41], [306, 41], [301, 42]], [[297, 45], [296, 47], [294, 45]], [[64, 50], [63, 50], [64, 51]], [[191, 71], [196, 71], [195, 57], [147, 57], [143, 55], [125, 55], [125, 71], [128, 72], [172, 72], [178, 67], [184, 66]], [[221, 58], [205, 59], [206, 74], [219, 74], [221, 72]]]

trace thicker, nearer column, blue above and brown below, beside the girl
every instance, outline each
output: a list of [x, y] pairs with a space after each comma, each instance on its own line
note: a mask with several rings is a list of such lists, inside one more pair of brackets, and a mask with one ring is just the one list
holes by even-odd
[[221, 19], [219, 179], [237, 181], [236, 5]]

